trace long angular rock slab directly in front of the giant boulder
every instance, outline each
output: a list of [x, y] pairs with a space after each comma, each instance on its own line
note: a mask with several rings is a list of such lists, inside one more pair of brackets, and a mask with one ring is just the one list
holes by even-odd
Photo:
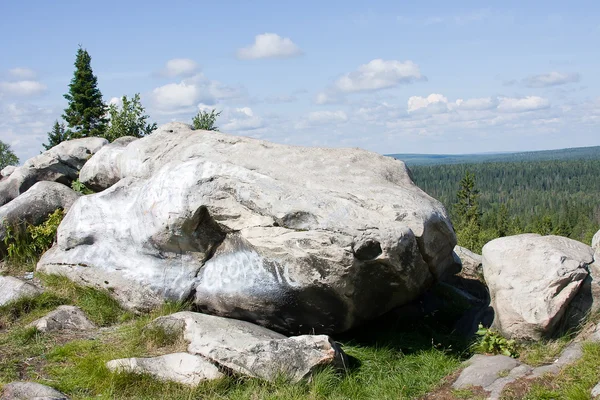
[[286, 338], [250, 322], [193, 312], [158, 318], [152, 326], [182, 328], [189, 353], [246, 376], [273, 380], [284, 375], [297, 382], [324, 366], [347, 365], [342, 349], [325, 335]]

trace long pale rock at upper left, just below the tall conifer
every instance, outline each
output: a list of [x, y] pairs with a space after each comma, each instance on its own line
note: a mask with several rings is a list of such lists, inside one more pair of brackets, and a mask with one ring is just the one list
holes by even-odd
[[54, 181], [70, 185], [83, 164], [108, 144], [106, 139], [90, 137], [62, 142], [30, 158], [10, 176], [0, 180], [0, 206], [25, 193], [36, 182]]

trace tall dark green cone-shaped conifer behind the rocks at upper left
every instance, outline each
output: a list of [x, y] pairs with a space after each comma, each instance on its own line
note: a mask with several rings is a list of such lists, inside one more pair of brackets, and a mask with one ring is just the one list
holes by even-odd
[[88, 52], [79, 47], [69, 93], [64, 95], [69, 101], [63, 115], [68, 124], [69, 139], [103, 136], [106, 131], [107, 109], [98, 89], [98, 79], [92, 72], [91, 61]]

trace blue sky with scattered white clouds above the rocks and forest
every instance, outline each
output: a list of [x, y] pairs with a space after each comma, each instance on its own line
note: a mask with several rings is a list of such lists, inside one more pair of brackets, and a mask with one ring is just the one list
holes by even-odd
[[224, 132], [384, 154], [600, 145], [599, 15], [592, 1], [2, 1], [0, 140], [22, 161], [42, 150], [81, 44], [105, 100], [140, 93], [159, 124], [216, 108]]

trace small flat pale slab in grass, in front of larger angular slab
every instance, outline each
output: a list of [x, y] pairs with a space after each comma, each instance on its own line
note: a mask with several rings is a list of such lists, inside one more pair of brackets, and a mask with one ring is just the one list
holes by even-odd
[[225, 376], [207, 359], [188, 353], [151, 358], [123, 358], [107, 362], [106, 367], [111, 371], [150, 374], [161, 380], [190, 386]]

